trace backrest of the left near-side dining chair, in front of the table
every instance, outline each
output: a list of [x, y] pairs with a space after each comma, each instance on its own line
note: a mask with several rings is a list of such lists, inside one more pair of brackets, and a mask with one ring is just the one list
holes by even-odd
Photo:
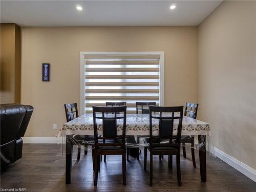
[[[98, 135], [99, 125], [102, 125], [100, 136]], [[122, 136], [117, 135], [117, 127], [122, 128]], [[95, 146], [125, 147], [126, 106], [93, 106], [93, 129]], [[99, 139], [103, 140], [103, 143], [99, 143]], [[115, 140], [115, 143], [104, 143], [105, 139]], [[117, 139], [122, 139], [122, 143], [117, 143]]]

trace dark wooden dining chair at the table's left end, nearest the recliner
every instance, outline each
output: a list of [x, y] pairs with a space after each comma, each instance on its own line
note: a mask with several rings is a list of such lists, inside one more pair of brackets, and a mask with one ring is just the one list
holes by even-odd
[[[77, 103], [68, 103], [64, 104], [65, 107], [65, 113], [66, 113], [66, 119], [67, 122], [77, 118], [78, 115], [78, 109], [77, 109]], [[74, 136], [74, 140], [76, 141], [76, 145], [78, 145], [78, 150], [77, 150], [77, 160], [80, 159], [80, 154], [81, 154], [81, 144], [85, 140], [94, 140], [93, 135], [76, 135]], [[86, 155], [87, 152], [87, 147], [88, 145], [84, 145], [84, 155]]]

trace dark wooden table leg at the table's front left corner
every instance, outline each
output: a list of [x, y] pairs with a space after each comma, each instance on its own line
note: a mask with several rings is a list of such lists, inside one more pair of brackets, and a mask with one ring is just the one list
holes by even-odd
[[66, 184], [71, 183], [73, 144], [70, 139], [72, 135], [66, 136]]

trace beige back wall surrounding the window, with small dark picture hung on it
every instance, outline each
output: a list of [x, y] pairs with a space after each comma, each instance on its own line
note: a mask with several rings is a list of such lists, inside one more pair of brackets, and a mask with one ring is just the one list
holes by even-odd
[[34, 106], [26, 136], [56, 136], [63, 104], [80, 105], [80, 51], [164, 51], [165, 105], [197, 102], [197, 42], [197, 27], [23, 28], [22, 103]]

